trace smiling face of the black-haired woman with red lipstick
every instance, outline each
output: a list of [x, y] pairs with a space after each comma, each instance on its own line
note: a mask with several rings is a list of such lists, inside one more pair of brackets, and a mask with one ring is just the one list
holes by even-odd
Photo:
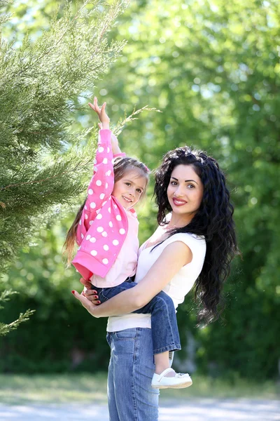
[[191, 165], [178, 165], [172, 171], [167, 197], [172, 213], [193, 217], [200, 208], [203, 184]]

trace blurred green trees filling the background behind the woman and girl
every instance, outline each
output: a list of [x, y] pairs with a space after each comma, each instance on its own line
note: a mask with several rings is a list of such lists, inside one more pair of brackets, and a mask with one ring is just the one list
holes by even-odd
[[[62, 4], [64, 1], [61, 2]], [[3, 36], [21, 41], [48, 30], [55, 1], [15, 1]], [[242, 258], [225, 285], [220, 321], [196, 327], [192, 294], [179, 307], [184, 349], [176, 366], [212, 377], [279, 378], [279, 1], [137, 0], [109, 33], [127, 40], [123, 56], [94, 89], [111, 121], [144, 105], [120, 135], [128, 155], [156, 168], [162, 155], [192, 145], [215, 156], [235, 204]], [[76, 128], [92, 124], [77, 114]], [[88, 175], [90, 179], [90, 174]], [[140, 242], [156, 226], [152, 199], [138, 209]], [[65, 269], [62, 245], [78, 203], [64, 206], [3, 275], [1, 288], [19, 292], [1, 312], [6, 323], [36, 309], [0, 339], [1, 373], [106, 370], [106, 319], [92, 319], [71, 296], [79, 276]]]

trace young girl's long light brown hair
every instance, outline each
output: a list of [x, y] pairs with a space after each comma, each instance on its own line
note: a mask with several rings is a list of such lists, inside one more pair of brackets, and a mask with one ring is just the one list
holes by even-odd
[[[129, 156], [122, 156], [122, 157], [119, 156], [118, 158], [114, 160], [114, 163], [113, 163], [114, 182], [123, 178], [124, 175], [128, 173], [129, 171], [138, 171], [139, 177], [146, 178], [146, 186], [145, 186], [144, 192], [141, 194], [141, 199], [143, 199], [144, 196], [146, 195], [146, 189], [148, 186], [148, 179], [149, 179], [150, 171], [148, 170], [148, 168], [143, 162], [137, 161], [137, 159], [130, 158]], [[76, 246], [76, 233], [78, 229], [78, 223], [80, 222], [80, 218], [82, 216], [83, 208], [85, 206], [86, 201], [87, 201], [87, 198], [83, 202], [83, 205], [80, 206], [76, 214], [76, 217], [73, 220], [73, 223], [66, 234], [66, 240], [63, 246], [63, 254], [66, 255], [68, 265], [70, 265], [71, 260], [73, 258], [73, 251]]]

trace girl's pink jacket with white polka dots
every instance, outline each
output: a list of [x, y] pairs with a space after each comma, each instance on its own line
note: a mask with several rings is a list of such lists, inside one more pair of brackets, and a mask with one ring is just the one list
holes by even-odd
[[[99, 264], [108, 265], [108, 267], [111, 267], [116, 259], [125, 234], [127, 234], [125, 215], [111, 196], [113, 189], [112, 156], [108, 131], [101, 131], [93, 165], [94, 176], [87, 189], [87, 202], [78, 225], [78, 241], [80, 244], [83, 241], [83, 251], [88, 256], [96, 257]], [[107, 203], [108, 201], [109, 203]], [[89, 223], [89, 230], [86, 234], [83, 227], [85, 220]], [[80, 225], [83, 227], [83, 234]], [[96, 243], [95, 246], [94, 243]], [[80, 265], [83, 266], [83, 256], [80, 259]], [[94, 263], [92, 259], [92, 272], [94, 272], [95, 265], [97, 262]]]

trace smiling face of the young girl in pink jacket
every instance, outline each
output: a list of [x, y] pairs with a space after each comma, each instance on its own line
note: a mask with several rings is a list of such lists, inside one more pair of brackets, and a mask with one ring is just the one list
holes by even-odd
[[146, 189], [147, 180], [138, 171], [127, 171], [123, 178], [114, 184], [112, 195], [125, 209], [132, 208]]

